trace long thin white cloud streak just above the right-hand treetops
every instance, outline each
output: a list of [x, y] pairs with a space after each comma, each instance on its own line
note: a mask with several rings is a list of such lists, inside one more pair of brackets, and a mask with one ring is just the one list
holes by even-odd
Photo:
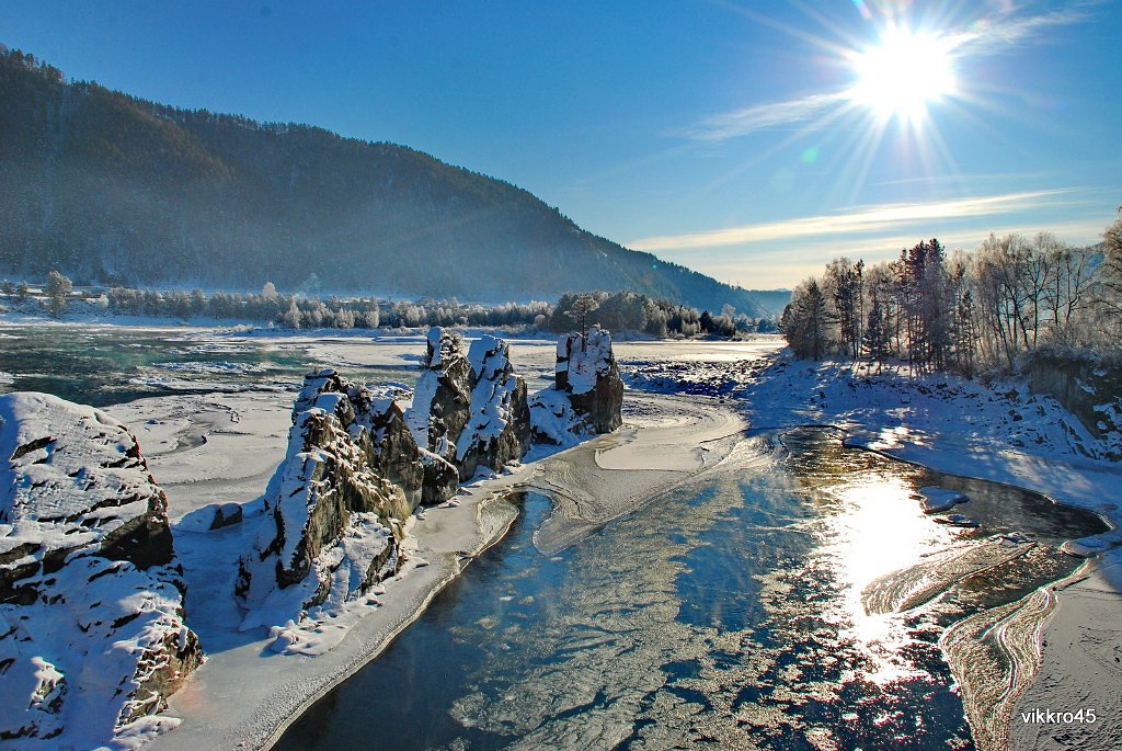
[[1059, 195], [1070, 192], [1069, 190], [1048, 190], [948, 201], [884, 203], [873, 207], [857, 207], [846, 213], [802, 217], [787, 221], [743, 225], [684, 235], [647, 237], [628, 242], [627, 247], [650, 251], [687, 250], [807, 237], [867, 235], [917, 222], [930, 222], [936, 219], [950, 221], [1027, 211], [1051, 204]]

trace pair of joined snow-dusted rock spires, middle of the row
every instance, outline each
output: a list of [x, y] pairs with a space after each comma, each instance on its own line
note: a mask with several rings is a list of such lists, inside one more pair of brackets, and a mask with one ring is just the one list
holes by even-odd
[[465, 356], [457, 335], [430, 329], [407, 419], [414, 440], [453, 465], [459, 479], [480, 465], [500, 469], [530, 448], [526, 384], [496, 337], [480, 337]]

